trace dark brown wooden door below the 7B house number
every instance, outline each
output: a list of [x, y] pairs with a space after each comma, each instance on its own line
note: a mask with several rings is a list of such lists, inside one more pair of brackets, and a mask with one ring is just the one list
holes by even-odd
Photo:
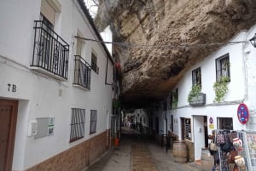
[[18, 101], [0, 99], [0, 170], [11, 171]]

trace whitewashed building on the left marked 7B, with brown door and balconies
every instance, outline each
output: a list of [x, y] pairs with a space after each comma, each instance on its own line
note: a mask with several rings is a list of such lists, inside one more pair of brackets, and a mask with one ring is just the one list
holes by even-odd
[[109, 148], [113, 99], [84, 1], [3, 0], [0, 23], [0, 170], [81, 170]]

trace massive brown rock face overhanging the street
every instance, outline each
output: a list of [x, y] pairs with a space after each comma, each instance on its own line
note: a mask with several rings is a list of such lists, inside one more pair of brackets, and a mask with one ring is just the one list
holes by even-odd
[[255, 25], [255, 10], [254, 0], [100, 0], [95, 23], [113, 31], [121, 100], [166, 98], [190, 66]]

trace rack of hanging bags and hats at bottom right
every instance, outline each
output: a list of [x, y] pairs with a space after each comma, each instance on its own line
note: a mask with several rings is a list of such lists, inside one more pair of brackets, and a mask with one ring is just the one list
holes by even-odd
[[213, 157], [218, 159], [215, 166], [218, 171], [256, 171], [256, 132], [226, 129], [214, 132], [218, 146], [214, 154], [218, 157]]

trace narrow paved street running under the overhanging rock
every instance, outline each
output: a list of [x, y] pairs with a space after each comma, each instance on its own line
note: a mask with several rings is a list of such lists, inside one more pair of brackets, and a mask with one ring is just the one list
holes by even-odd
[[119, 146], [114, 146], [83, 171], [206, 171], [192, 162], [175, 162], [171, 151], [166, 153], [166, 148], [131, 128], [122, 128], [122, 131]]

